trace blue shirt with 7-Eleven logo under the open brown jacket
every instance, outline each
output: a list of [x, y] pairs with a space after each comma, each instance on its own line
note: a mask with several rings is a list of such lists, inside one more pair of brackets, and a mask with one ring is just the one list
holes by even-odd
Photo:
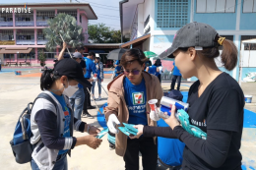
[[146, 102], [147, 93], [144, 79], [140, 85], [133, 85], [128, 78], [123, 82], [125, 101], [129, 110], [129, 124], [148, 125]]

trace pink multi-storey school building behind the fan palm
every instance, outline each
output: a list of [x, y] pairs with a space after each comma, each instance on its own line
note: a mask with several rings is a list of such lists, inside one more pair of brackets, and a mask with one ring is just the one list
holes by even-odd
[[[15, 11], [16, 10], [16, 11]], [[97, 20], [96, 13], [89, 3], [36, 3], [0, 4], [0, 58], [4, 64], [26, 64], [38, 66], [38, 52], [46, 54], [46, 64], [53, 64], [54, 52], [46, 51], [47, 40], [42, 32], [48, 27], [47, 21], [59, 13], [76, 18], [85, 33], [84, 43], [88, 43], [88, 21]], [[75, 49], [70, 49], [74, 52]]]

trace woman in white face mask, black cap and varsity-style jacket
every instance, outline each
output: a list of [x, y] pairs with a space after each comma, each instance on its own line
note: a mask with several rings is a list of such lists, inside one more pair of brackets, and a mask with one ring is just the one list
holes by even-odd
[[[81, 66], [68, 58], [58, 61], [53, 70], [46, 69], [40, 79], [40, 88], [57, 103], [38, 98], [32, 107], [31, 128], [34, 144], [32, 170], [67, 170], [67, 154], [81, 144], [97, 148], [101, 140], [96, 139], [96, 127], [74, 117], [68, 96], [78, 90], [78, 84], [90, 86], [84, 78]], [[75, 138], [73, 130], [90, 135]]]

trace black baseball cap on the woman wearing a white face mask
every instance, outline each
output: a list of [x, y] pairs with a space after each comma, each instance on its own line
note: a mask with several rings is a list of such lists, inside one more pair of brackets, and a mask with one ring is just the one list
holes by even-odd
[[84, 87], [92, 86], [92, 84], [84, 77], [80, 64], [71, 58], [65, 58], [58, 61], [54, 65], [53, 74], [56, 76], [72, 78]]

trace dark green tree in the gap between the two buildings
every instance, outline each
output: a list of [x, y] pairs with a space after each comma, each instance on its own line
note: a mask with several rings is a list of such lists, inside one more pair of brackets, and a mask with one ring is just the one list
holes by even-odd
[[[104, 24], [89, 25], [89, 40], [93, 43], [121, 43], [121, 31], [106, 27]], [[128, 39], [123, 37], [123, 42]]]

